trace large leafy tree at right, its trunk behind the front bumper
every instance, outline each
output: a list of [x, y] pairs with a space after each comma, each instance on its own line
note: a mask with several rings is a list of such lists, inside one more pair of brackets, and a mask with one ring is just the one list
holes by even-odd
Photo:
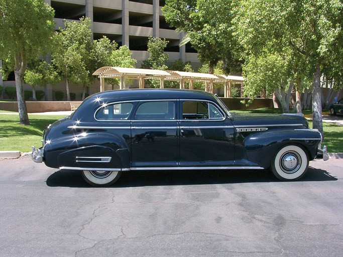
[[[338, 0], [238, 1], [235, 29], [248, 54], [290, 53], [294, 79], [312, 77], [313, 128], [323, 134], [320, 77], [343, 66], [343, 3]], [[301, 65], [300, 65], [301, 64]], [[296, 70], [294, 67], [301, 67]], [[335, 74], [341, 80], [341, 72]]]

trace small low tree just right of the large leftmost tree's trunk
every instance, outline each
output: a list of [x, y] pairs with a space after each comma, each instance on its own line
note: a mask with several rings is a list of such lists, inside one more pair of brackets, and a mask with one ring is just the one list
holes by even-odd
[[36, 86], [44, 87], [47, 84], [56, 84], [59, 81], [59, 76], [51, 64], [36, 59], [28, 65], [24, 81], [32, 86], [32, 98], [36, 101]]

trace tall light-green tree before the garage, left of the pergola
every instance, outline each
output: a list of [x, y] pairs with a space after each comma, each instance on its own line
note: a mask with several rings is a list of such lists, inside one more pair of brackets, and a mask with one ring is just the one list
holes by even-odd
[[70, 101], [69, 83], [90, 83], [92, 32], [90, 19], [80, 22], [65, 21], [65, 29], [55, 33], [52, 62], [66, 82], [67, 100]]

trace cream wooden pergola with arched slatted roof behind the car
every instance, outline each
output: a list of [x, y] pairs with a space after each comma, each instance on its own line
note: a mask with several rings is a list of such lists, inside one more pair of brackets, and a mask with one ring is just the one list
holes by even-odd
[[213, 75], [208, 73], [184, 72], [184, 71], [163, 71], [151, 69], [136, 69], [136, 68], [122, 68], [122, 67], [101, 67], [94, 73], [100, 79], [100, 92], [104, 91], [105, 78], [118, 78], [120, 80], [120, 89], [126, 89], [126, 79], [138, 79], [139, 88], [144, 88], [145, 79], [160, 80], [160, 88], [164, 88], [165, 80], [179, 81], [180, 89], [185, 88], [185, 82], [189, 82], [189, 88], [193, 89], [195, 81], [205, 82], [205, 91], [212, 92], [214, 90], [214, 83], [224, 84], [224, 97], [230, 97], [232, 84], [242, 84], [244, 78], [241, 76], [225, 76]]

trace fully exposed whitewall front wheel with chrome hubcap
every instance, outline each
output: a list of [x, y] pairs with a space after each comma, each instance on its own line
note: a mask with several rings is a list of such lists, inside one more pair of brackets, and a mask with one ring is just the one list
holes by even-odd
[[280, 180], [298, 180], [306, 173], [308, 155], [300, 147], [287, 145], [279, 149], [271, 163], [273, 174]]

